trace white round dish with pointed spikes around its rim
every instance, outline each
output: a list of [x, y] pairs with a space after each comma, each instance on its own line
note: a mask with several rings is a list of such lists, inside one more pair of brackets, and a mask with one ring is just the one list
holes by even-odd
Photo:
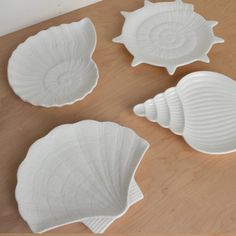
[[213, 44], [224, 42], [214, 35], [216, 21], [206, 21], [193, 11], [193, 5], [181, 0], [145, 0], [143, 8], [121, 14], [125, 23], [113, 42], [124, 44], [134, 56], [132, 66], [162, 66], [172, 75], [179, 66], [209, 62], [207, 54]]

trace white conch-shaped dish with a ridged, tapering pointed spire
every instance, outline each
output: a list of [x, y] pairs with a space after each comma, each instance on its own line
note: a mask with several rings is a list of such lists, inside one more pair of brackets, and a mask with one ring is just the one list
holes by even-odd
[[176, 87], [136, 105], [134, 112], [182, 135], [198, 151], [236, 151], [236, 82], [223, 74], [191, 73]]

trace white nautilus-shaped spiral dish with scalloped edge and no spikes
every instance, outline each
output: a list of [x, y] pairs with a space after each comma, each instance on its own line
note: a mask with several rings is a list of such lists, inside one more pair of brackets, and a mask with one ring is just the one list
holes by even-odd
[[96, 31], [89, 18], [43, 30], [13, 52], [9, 84], [33, 105], [60, 107], [79, 101], [97, 84], [95, 46]]

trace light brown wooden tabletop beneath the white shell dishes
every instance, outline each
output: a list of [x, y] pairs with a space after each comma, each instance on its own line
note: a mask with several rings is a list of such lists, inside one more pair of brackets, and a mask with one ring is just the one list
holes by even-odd
[[[215, 33], [225, 44], [213, 47], [210, 64], [196, 62], [179, 68], [174, 76], [150, 65], [132, 68], [132, 56], [111, 42], [124, 21], [119, 12], [141, 7], [141, 0], [104, 0], [0, 38], [0, 232], [30, 232], [14, 198], [16, 171], [29, 146], [60, 124], [95, 119], [128, 126], [151, 144], [136, 174], [145, 198], [114, 222], [108, 233], [236, 234], [236, 153], [201, 154], [181, 137], [132, 112], [135, 104], [175, 86], [192, 71], [218, 71], [236, 79], [236, 1], [188, 2], [206, 19], [220, 22]], [[15, 96], [7, 82], [7, 62], [16, 46], [42, 29], [87, 16], [98, 35], [94, 60], [100, 79], [94, 92], [74, 105], [51, 109], [32, 106]], [[51, 232], [89, 230], [75, 223]]]

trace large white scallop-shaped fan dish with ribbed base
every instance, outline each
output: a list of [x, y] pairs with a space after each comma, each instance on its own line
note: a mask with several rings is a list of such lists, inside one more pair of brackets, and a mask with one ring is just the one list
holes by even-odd
[[36, 141], [17, 173], [16, 200], [33, 232], [82, 222], [102, 233], [143, 198], [134, 174], [149, 144], [134, 131], [92, 120]]

